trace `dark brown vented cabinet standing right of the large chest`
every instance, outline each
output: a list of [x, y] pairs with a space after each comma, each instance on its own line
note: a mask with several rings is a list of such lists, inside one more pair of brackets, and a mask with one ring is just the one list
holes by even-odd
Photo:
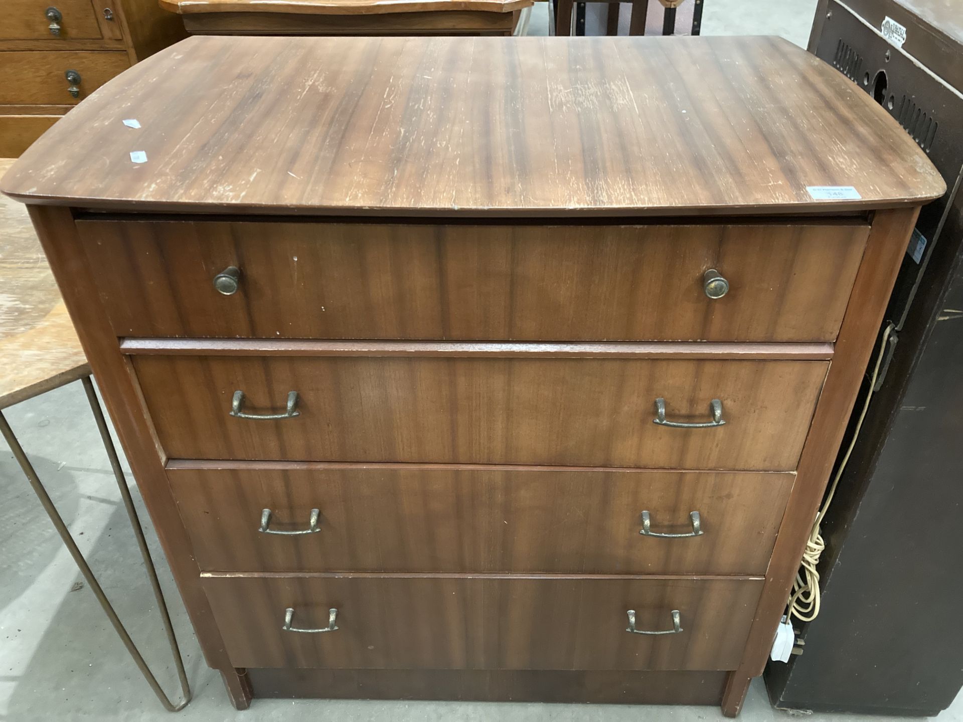
[[[887, 313], [897, 342], [823, 523], [820, 615], [801, 656], [768, 665], [779, 708], [933, 715], [963, 684], [963, 48], [941, 4], [922, 6], [822, 0], [810, 40], [950, 191], [921, 214]], [[905, 28], [901, 48], [883, 37], [888, 19]]]

